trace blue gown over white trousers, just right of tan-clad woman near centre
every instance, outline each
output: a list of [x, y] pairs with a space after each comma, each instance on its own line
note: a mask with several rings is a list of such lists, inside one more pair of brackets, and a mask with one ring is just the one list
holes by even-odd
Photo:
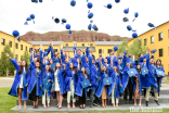
[[119, 89], [120, 89], [120, 86], [121, 86], [121, 77], [119, 76], [118, 73], [115, 73], [113, 72], [112, 75], [112, 85], [109, 85], [109, 89], [108, 89], [108, 96], [110, 96], [114, 87], [115, 87], [115, 92], [114, 92], [114, 97], [115, 98], [120, 98], [120, 95], [119, 95]]

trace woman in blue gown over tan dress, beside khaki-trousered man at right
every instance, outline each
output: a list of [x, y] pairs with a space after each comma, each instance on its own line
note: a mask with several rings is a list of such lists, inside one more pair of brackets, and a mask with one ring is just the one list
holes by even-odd
[[139, 97], [139, 106], [141, 106], [142, 103], [142, 77], [145, 77], [145, 75], [142, 75], [141, 72], [141, 64], [139, 61], [135, 61], [136, 65], [136, 72], [138, 74], [132, 76], [132, 85], [133, 85], [133, 97], [134, 97], [134, 105], [136, 105], [136, 97]]

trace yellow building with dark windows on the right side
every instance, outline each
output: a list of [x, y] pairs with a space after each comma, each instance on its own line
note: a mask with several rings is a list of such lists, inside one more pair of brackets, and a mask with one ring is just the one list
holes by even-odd
[[[143, 46], [147, 46], [151, 50], [157, 49], [154, 54], [155, 61], [160, 59], [165, 74], [169, 75], [169, 22], [157, 26], [156, 30], [153, 28], [143, 33], [138, 38], [143, 41]], [[132, 45], [133, 40], [130, 40], [128, 46]]]

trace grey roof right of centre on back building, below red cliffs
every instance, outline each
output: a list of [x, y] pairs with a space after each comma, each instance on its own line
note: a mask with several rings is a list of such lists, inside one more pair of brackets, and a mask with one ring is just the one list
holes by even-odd
[[116, 46], [121, 45], [122, 41], [94, 41], [96, 46]]

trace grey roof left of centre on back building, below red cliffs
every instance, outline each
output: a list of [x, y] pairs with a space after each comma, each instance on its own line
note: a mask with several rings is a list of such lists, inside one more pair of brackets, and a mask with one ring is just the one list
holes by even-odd
[[[30, 43], [32, 43], [32, 45], [35, 45], [35, 46], [39, 46], [39, 45], [42, 45], [42, 46], [49, 46], [50, 45], [50, 41], [28, 41], [28, 42], [30, 42]], [[63, 41], [52, 41], [53, 42], [53, 45], [62, 45], [63, 43]]]

